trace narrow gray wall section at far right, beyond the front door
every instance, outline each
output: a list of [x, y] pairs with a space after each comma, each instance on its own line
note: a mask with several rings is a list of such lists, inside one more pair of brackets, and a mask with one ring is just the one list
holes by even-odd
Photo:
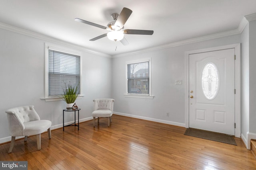
[[241, 34], [241, 137], [250, 149], [250, 140], [256, 139], [256, 21], [249, 21]]

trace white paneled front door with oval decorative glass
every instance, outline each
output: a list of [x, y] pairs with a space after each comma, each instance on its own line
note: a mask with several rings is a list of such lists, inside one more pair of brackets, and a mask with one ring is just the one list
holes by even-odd
[[235, 49], [189, 55], [189, 127], [235, 134]]

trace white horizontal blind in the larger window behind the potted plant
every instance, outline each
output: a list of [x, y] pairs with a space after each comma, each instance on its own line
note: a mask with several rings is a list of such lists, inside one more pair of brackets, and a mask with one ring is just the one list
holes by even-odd
[[79, 84], [80, 94], [80, 56], [49, 49], [48, 95], [62, 95], [65, 84]]

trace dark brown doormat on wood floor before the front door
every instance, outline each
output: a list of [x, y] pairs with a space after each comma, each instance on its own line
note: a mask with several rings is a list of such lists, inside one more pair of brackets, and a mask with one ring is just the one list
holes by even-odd
[[215, 133], [210, 131], [188, 128], [184, 135], [236, 145], [236, 141], [233, 136], [225, 135], [222, 133]]

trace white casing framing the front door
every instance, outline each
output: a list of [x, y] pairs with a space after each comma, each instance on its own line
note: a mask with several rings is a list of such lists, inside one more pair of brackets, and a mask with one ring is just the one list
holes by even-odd
[[224, 49], [235, 49], [235, 137], [241, 137], [241, 53], [240, 53], [241, 44], [232, 44], [232, 45], [223, 45], [219, 47], [211, 47], [206, 49], [199, 49], [193, 51], [186, 51], [185, 52], [185, 61], [186, 61], [186, 93], [185, 93], [185, 127], [189, 127], [189, 55], [196, 54], [196, 53], [205, 53], [210, 51], [218, 51]]

